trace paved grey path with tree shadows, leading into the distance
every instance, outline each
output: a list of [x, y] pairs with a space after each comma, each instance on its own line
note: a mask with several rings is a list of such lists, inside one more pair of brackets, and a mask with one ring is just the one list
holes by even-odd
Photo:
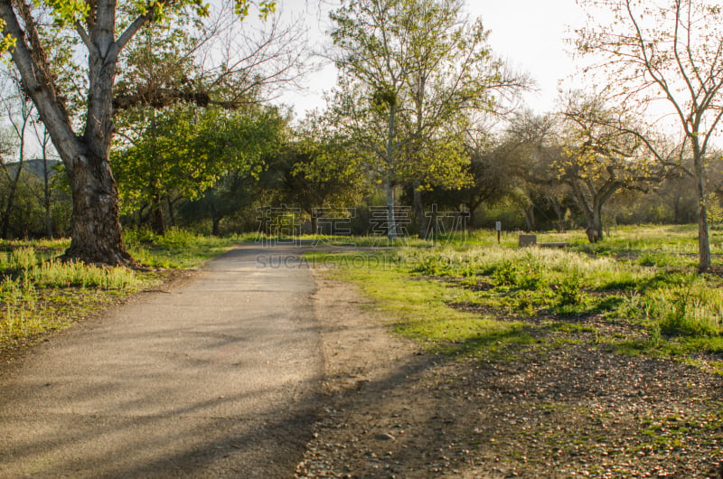
[[322, 373], [299, 252], [232, 249], [33, 348], [0, 382], [0, 476], [293, 474]]

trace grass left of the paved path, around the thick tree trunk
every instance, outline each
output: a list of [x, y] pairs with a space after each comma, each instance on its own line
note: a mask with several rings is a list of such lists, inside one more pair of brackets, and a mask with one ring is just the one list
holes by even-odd
[[158, 268], [197, 268], [246, 237], [130, 230], [124, 240], [131, 255], [152, 269], [61, 262], [57, 257], [69, 240], [0, 241], [0, 355], [159, 285], [167, 273]]

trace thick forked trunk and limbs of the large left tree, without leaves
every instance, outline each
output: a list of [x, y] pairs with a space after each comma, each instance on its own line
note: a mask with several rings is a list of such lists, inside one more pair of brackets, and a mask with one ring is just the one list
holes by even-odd
[[[0, 18], [5, 21], [4, 33], [16, 40], [12, 58], [23, 90], [33, 99], [70, 180], [71, 240], [64, 258], [131, 266], [135, 262], [121, 238], [117, 186], [108, 159], [114, 130], [112, 89], [118, 52], [154, 12], [138, 17], [116, 42], [116, 2], [98, 0], [89, 5], [91, 11], [86, 25], [75, 25], [88, 48], [89, 58], [88, 109], [83, 136], [73, 130], [29, 7], [23, 1], [0, 0]], [[23, 28], [17, 15], [23, 20]]]

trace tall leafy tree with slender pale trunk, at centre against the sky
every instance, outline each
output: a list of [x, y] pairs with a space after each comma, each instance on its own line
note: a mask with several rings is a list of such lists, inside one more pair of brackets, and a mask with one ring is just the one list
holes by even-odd
[[465, 111], [493, 109], [494, 91], [517, 86], [457, 0], [352, 0], [333, 12], [340, 70], [333, 121], [366, 149], [387, 196], [397, 235], [395, 186], [468, 180]]

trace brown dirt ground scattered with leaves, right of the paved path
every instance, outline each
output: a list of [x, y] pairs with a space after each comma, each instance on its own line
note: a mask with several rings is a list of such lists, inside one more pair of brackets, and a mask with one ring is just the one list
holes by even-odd
[[296, 477], [723, 477], [719, 375], [590, 333], [492, 362], [422, 354], [316, 280], [324, 414]]

